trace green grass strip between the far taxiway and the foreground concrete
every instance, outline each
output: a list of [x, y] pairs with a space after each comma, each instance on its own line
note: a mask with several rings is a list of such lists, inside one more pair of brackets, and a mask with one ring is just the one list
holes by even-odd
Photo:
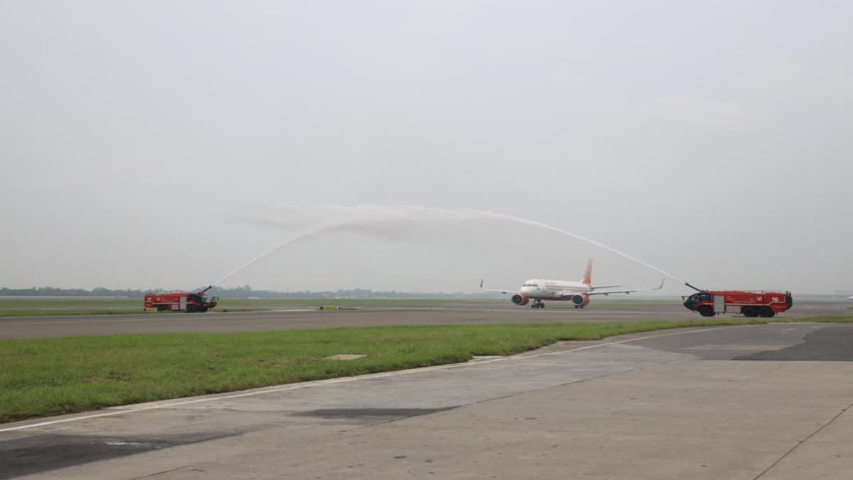
[[[805, 321], [807, 319], [797, 319]], [[853, 316], [812, 321], [853, 322]], [[0, 341], [0, 422], [508, 355], [560, 340], [761, 319], [438, 325]], [[352, 361], [334, 354], [367, 354]]]

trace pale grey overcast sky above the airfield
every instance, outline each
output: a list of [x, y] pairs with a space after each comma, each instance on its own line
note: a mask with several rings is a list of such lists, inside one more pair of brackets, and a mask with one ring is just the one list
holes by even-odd
[[223, 286], [661, 278], [474, 209], [701, 286], [853, 290], [850, 25], [828, 0], [3, 0], [0, 286], [193, 288], [317, 227]]

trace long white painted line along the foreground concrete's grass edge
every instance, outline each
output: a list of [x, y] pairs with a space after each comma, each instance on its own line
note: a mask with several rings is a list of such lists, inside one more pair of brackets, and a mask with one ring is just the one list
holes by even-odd
[[[91, 415], [84, 415], [82, 417], [74, 417], [73, 419], [50, 420], [47, 422], [38, 422], [36, 424], [20, 425], [17, 427], [0, 429], [0, 432], [14, 431], [14, 430], [27, 430], [27, 429], [32, 429], [35, 427], [43, 427], [43, 426], [53, 425], [53, 424], [65, 424], [65, 423], [69, 423], [69, 422], [76, 422], [79, 420], [88, 420], [88, 419], [98, 419], [101, 417], [110, 417], [113, 415], [120, 415], [122, 413], [144, 412], [147, 410], [157, 410], [157, 409], [161, 409], [161, 408], [179, 407], [179, 406], [183, 406], [183, 405], [190, 405], [190, 404], [201, 403], [201, 402], [205, 402], [205, 401], [229, 400], [229, 399], [233, 399], [233, 398], [241, 398], [241, 397], [254, 396], [254, 395], [264, 395], [264, 394], [270, 394], [270, 393], [284, 392], [284, 391], [288, 391], [288, 390], [305, 389], [305, 388], [310, 388], [310, 387], [319, 387], [319, 386], [331, 385], [331, 384], [335, 384], [335, 383], [349, 383], [349, 382], [356, 382], [359, 380], [368, 380], [368, 379], [372, 379], [372, 378], [397, 377], [397, 376], [401, 376], [401, 375], [409, 375], [412, 373], [434, 372], [437, 370], [448, 370], [450, 368], [461, 368], [461, 367], [465, 367], [465, 366], [480, 366], [480, 365], [483, 365], [485, 363], [491, 363], [491, 362], [503, 361], [503, 360], [526, 360], [526, 359], [532, 359], [532, 358], [537, 358], [537, 357], [544, 357], [544, 356], [548, 356], [548, 355], [571, 354], [573, 352], [580, 352], [583, 350], [589, 350], [590, 348], [608, 347], [611, 345], [618, 345], [620, 343], [627, 343], [627, 342], [638, 342], [640, 340], [647, 340], [649, 338], [671, 337], [674, 335], [685, 335], [688, 333], [702, 333], [705, 331], [716, 331], [716, 330], [723, 330], [723, 329], [728, 329], [728, 328], [742, 328], [742, 327], [750, 327], [750, 326], [762, 326], [762, 325], [725, 325], [725, 326], [719, 326], [719, 327], [705, 328], [705, 329], [701, 329], [701, 330], [676, 331], [676, 332], [670, 332], [670, 333], [662, 333], [659, 335], [647, 335], [646, 337], [629, 338], [626, 340], [619, 340], [617, 342], [596, 343], [595, 345], [587, 345], [585, 347], [572, 348], [570, 350], [563, 350], [560, 352], [548, 352], [548, 353], [544, 353], [544, 354], [530, 354], [530, 355], [518, 354], [518, 355], [507, 356], [507, 357], [499, 357], [496, 359], [473, 361], [473, 362], [466, 362], [466, 363], [454, 363], [454, 364], [450, 364], [450, 365], [427, 366], [427, 367], [423, 367], [423, 368], [414, 368], [414, 369], [402, 370], [402, 371], [397, 371], [397, 372], [374, 373], [374, 374], [368, 374], [368, 375], [359, 375], [357, 377], [330, 378], [328, 380], [319, 380], [319, 381], [315, 381], [315, 382], [297, 383], [297, 384], [293, 384], [293, 385], [287, 385], [284, 387], [256, 390], [256, 391], [244, 392], [244, 393], [240, 393], [240, 394], [223, 395], [223, 396], [216, 396], [216, 397], [207, 397], [206, 396], [204, 398], [196, 398], [194, 400], [174, 401], [174, 402], [170, 402], [170, 403], [159, 403], [157, 405], [148, 405], [146, 407], [135, 407], [133, 405], [121, 406], [121, 407], [110, 407], [110, 408], [117, 408], [119, 410], [114, 410], [112, 412], [106, 412], [106, 413], [94, 413]], [[145, 405], [145, 404], [141, 404], [141, 405]]]

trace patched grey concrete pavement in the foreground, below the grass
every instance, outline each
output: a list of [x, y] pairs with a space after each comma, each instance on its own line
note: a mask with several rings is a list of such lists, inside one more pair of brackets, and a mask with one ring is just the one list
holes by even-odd
[[849, 478], [851, 342], [655, 331], [4, 424], [0, 477]]

